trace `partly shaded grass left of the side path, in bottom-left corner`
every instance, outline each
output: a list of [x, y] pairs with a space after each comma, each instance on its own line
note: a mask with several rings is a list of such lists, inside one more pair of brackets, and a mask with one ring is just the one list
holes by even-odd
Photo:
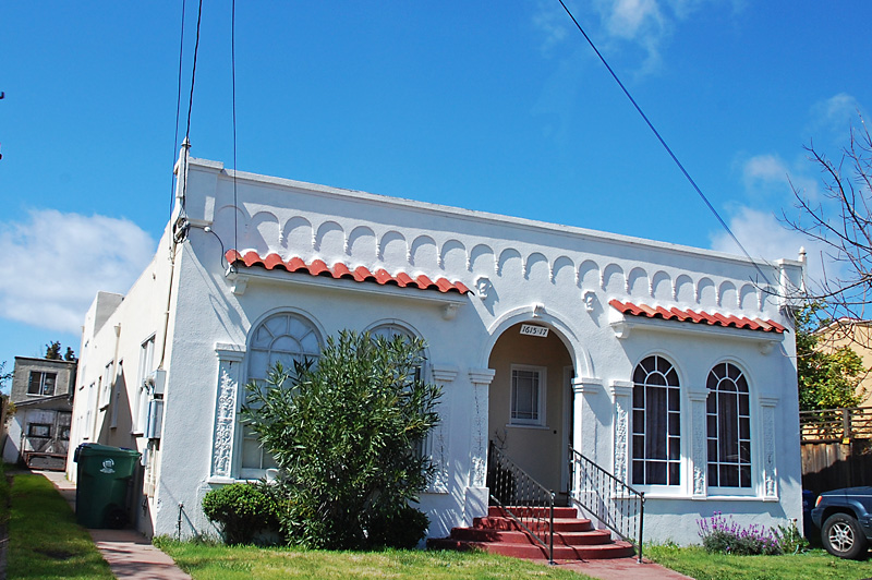
[[50, 481], [43, 475], [15, 473], [10, 497], [9, 578], [114, 578]]

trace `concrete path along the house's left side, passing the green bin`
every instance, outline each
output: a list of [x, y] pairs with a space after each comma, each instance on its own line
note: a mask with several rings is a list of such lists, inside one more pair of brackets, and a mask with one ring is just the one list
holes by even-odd
[[[62, 471], [34, 471], [55, 484], [75, 511], [75, 484]], [[172, 558], [135, 530], [88, 530], [97, 549], [119, 580], [191, 580]]]

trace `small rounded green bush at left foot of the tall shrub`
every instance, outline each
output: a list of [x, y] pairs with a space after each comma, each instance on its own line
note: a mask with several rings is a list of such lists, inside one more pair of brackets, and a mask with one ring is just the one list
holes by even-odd
[[277, 531], [278, 500], [269, 485], [232, 483], [203, 498], [203, 512], [221, 528], [228, 544], [251, 544], [263, 532]]

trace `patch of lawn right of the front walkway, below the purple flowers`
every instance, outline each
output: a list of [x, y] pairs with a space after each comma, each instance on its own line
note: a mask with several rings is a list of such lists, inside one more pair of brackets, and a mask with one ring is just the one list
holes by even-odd
[[791, 556], [708, 554], [702, 547], [645, 547], [645, 556], [697, 580], [858, 580], [872, 577], [872, 560], [852, 561], [812, 549]]

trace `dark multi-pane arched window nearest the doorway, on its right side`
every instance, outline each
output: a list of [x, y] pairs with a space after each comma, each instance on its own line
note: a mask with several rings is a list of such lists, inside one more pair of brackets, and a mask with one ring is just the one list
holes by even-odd
[[681, 415], [678, 373], [663, 357], [633, 372], [632, 481], [678, 485], [681, 475]]

